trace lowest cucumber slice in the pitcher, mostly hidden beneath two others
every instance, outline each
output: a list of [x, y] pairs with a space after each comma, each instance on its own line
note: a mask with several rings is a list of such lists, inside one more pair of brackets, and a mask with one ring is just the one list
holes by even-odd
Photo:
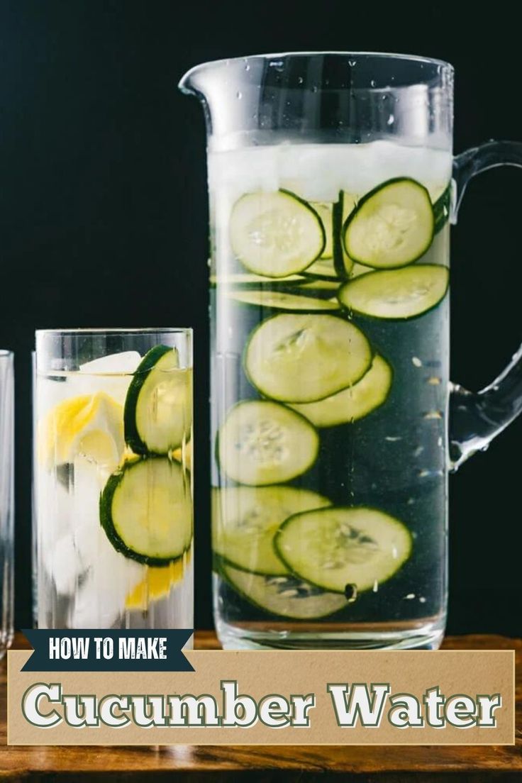
[[259, 576], [223, 565], [223, 576], [243, 598], [271, 615], [317, 620], [348, 605], [338, 593], [326, 593], [293, 576]]

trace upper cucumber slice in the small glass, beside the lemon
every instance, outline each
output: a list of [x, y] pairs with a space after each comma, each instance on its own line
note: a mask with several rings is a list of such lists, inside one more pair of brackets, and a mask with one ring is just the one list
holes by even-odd
[[155, 345], [135, 370], [124, 407], [125, 442], [135, 454], [167, 454], [189, 438], [192, 370], [182, 370], [178, 352]]

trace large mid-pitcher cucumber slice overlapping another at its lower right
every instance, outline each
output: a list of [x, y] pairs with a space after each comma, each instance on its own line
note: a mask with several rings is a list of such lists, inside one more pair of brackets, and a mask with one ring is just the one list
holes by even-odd
[[283, 313], [263, 321], [245, 352], [247, 376], [261, 394], [313, 402], [361, 378], [372, 363], [362, 331], [337, 316]]

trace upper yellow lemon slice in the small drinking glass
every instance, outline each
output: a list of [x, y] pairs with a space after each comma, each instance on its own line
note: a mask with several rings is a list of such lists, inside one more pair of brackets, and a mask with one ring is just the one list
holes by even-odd
[[38, 426], [38, 459], [47, 468], [78, 455], [112, 468], [123, 452], [123, 406], [104, 391], [64, 399]]

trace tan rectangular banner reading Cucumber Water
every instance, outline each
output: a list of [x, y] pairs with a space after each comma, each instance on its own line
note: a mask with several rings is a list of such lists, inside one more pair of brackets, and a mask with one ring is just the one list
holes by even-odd
[[511, 745], [511, 651], [188, 651], [190, 673], [20, 672], [10, 745]]

